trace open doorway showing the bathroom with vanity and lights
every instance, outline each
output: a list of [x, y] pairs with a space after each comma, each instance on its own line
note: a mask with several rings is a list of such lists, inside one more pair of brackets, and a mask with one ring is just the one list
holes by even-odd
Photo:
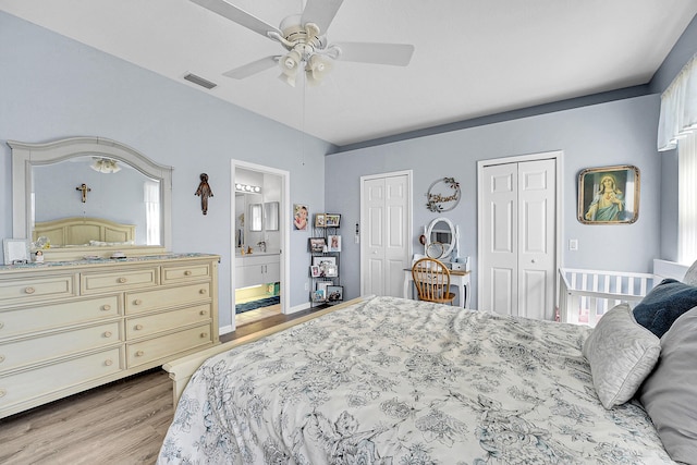
[[232, 160], [232, 330], [285, 314], [288, 171]]

